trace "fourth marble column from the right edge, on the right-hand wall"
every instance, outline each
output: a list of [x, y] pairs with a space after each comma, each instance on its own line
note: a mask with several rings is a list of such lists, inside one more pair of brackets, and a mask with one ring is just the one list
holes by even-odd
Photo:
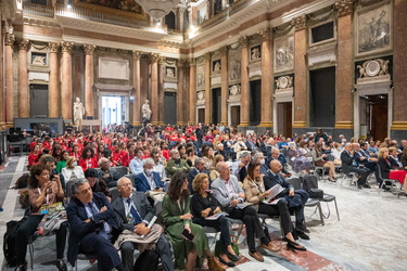
[[272, 126], [272, 29], [258, 31], [262, 37], [262, 109], [259, 127]]

